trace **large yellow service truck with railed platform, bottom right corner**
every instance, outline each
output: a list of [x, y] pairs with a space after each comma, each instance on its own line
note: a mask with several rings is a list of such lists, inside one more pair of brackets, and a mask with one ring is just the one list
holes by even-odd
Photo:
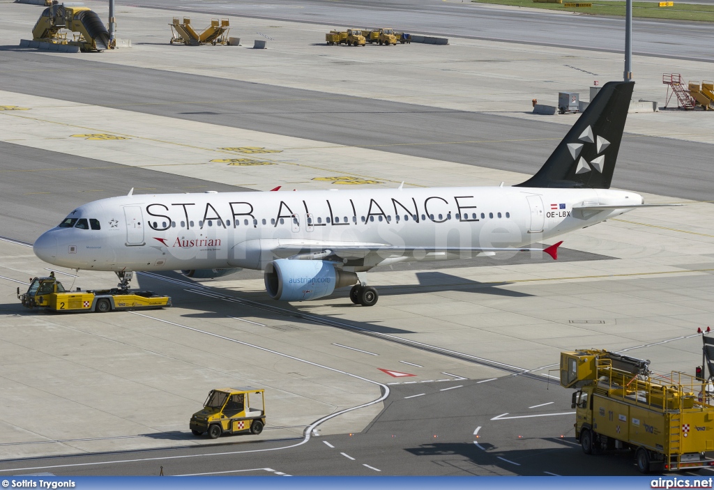
[[606, 350], [560, 353], [560, 385], [573, 393], [575, 439], [585, 454], [632, 449], [640, 472], [714, 466], [714, 406], [706, 382]]

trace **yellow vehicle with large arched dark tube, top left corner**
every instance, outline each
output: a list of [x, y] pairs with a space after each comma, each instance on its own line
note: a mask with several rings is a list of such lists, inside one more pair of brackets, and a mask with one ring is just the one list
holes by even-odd
[[[67, 39], [63, 29], [76, 33], [74, 39]], [[44, 43], [79, 46], [81, 51], [104, 51], [114, 47], [109, 42], [109, 31], [96, 12], [87, 7], [64, 4], [44, 9], [32, 28], [32, 38]]]

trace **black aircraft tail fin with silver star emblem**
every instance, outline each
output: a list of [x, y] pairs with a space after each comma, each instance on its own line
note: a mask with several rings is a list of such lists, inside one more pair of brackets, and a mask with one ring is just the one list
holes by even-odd
[[635, 82], [608, 82], [538, 173], [516, 187], [608, 189]]

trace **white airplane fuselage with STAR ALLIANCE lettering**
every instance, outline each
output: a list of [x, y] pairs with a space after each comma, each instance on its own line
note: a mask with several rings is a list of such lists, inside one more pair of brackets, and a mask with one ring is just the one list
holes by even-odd
[[[416, 249], [345, 262], [368, 270], [478, 254], [463, 251], [469, 247], [522, 247], [626, 211], [583, 214], [573, 206], [642, 202], [620, 190], [521, 187], [128, 195], [80, 206], [34, 249], [54, 265], [111, 271], [259, 270], [276, 258], [271, 250], [300, 243]], [[462, 251], [420, 253], [419, 247]]]

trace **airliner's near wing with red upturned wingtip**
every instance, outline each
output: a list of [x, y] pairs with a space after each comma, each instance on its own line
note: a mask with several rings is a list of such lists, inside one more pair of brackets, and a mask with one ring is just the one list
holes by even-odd
[[554, 260], [558, 260], [558, 247], [563, 242], [555, 243], [545, 248], [533, 247], [403, 247], [386, 243], [291, 243], [278, 245], [273, 253], [278, 257], [294, 257], [301, 259], [321, 259], [330, 255], [343, 258], [362, 258], [371, 253], [379, 255], [418, 255], [428, 252], [545, 252]]

